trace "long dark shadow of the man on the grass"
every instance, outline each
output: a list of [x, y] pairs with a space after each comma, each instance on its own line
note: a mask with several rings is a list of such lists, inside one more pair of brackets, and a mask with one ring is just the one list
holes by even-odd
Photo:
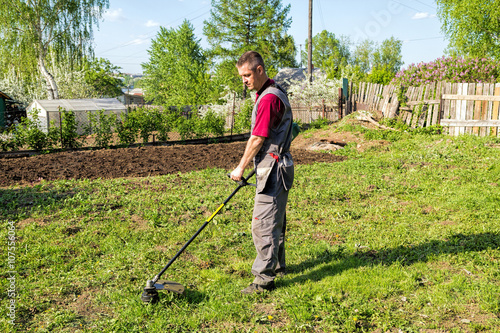
[[[418, 245], [400, 245], [395, 248], [374, 250], [369, 248], [357, 249], [355, 253], [346, 255], [344, 248], [337, 250], [325, 250], [315, 258], [305, 260], [299, 264], [288, 265], [289, 273], [300, 273], [308, 269], [310, 272], [298, 275], [291, 279], [284, 279], [284, 286], [304, 283], [306, 281], [320, 281], [327, 276], [341, 273], [347, 269], [386, 265], [395, 262], [408, 266], [416, 262], [427, 262], [430, 257], [442, 254], [458, 254], [466, 252], [479, 252], [489, 249], [500, 248], [500, 234], [486, 232], [480, 234], [465, 235], [454, 234], [445, 240], [431, 240]], [[330, 264], [328, 264], [330, 263]], [[328, 264], [328, 265], [322, 265]], [[322, 265], [321, 268], [313, 269]]]

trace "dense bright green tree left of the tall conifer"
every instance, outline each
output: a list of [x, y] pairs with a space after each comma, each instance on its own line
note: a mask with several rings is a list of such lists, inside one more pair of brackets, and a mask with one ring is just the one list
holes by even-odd
[[178, 29], [160, 27], [148, 50], [149, 62], [142, 64], [147, 100], [168, 106], [208, 102], [209, 66], [199, 41], [189, 21]]

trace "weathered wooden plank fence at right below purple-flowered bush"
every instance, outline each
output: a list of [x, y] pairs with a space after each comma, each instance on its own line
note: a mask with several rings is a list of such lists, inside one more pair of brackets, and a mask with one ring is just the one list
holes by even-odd
[[353, 99], [357, 109], [399, 117], [413, 128], [441, 125], [451, 135], [500, 134], [500, 83], [435, 82], [409, 87], [398, 97], [399, 90], [392, 85], [361, 83]]

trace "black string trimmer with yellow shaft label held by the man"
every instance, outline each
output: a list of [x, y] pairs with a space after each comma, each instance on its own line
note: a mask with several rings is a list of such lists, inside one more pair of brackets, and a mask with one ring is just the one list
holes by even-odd
[[217, 208], [217, 210], [205, 221], [205, 223], [196, 231], [196, 233], [184, 244], [184, 246], [177, 252], [177, 254], [170, 259], [167, 265], [163, 267], [160, 273], [156, 275], [153, 279], [148, 280], [146, 282], [146, 287], [144, 288], [144, 292], [141, 295], [141, 300], [145, 303], [155, 303], [159, 300], [158, 296], [158, 290], [165, 290], [167, 292], [172, 292], [178, 295], [184, 294], [184, 286], [182, 286], [180, 283], [173, 282], [173, 281], [165, 281], [165, 280], [160, 280], [160, 277], [165, 273], [165, 271], [172, 265], [172, 263], [181, 255], [182, 252], [191, 244], [191, 242], [205, 229], [207, 224], [212, 221], [212, 219], [217, 215], [221, 209], [231, 200], [231, 198], [240, 190], [240, 188], [251, 185], [255, 186], [255, 184], [250, 184], [248, 183], [248, 180], [255, 174], [255, 169], [252, 170], [248, 176], [245, 178], [243, 177], [241, 181], [237, 182], [238, 187], [231, 193], [229, 197], [227, 197], [226, 200], [222, 203], [222, 205]]

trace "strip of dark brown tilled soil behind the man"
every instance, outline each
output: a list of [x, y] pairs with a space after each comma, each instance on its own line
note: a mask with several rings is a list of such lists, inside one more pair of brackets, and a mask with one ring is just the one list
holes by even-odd
[[[234, 169], [245, 142], [209, 145], [67, 151], [23, 158], [0, 159], [0, 187], [55, 179], [145, 177], [205, 168]], [[295, 164], [338, 162], [342, 156], [291, 149]]]

